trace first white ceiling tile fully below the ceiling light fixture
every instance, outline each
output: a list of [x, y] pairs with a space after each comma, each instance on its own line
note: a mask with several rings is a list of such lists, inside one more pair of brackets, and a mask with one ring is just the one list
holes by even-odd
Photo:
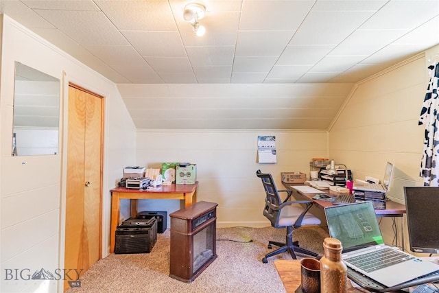
[[231, 66], [233, 64], [235, 47], [186, 47], [186, 51], [193, 67]]

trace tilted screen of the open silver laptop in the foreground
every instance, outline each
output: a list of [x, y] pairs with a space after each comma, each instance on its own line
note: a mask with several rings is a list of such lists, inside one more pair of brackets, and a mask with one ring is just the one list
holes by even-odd
[[329, 235], [342, 242], [343, 251], [383, 244], [372, 202], [357, 202], [324, 209]]

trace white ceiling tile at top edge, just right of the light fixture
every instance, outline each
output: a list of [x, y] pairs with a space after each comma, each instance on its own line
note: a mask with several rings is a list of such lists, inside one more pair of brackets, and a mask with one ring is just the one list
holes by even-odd
[[314, 1], [243, 1], [239, 30], [296, 30]]

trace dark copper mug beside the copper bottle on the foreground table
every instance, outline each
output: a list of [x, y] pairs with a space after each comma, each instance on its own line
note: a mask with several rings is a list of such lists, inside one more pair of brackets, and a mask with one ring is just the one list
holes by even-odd
[[320, 293], [320, 261], [305, 257], [300, 260], [302, 293]]

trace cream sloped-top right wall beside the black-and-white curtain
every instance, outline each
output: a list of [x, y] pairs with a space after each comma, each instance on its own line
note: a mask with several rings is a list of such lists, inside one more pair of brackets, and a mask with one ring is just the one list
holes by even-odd
[[[439, 46], [431, 51], [437, 53]], [[331, 158], [351, 168], [354, 178], [368, 175], [382, 180], [385, 163], [394, 163], [388, 197], [400, 203], [404, 186], [423, 185], [419, 168], [424, 126], [418, 126], [418, 118], [428, 82], [425, 55], [430, 54], [419, 54], [359, 82], [329, 131]], [[381, 222], [386, 243], [394, 237], [392, 224], [391, 218]], [[401, 224], [405, 225], [405, 217], [396, 220], [399, 237]], [[405, 244], [407, 250], [407, 236]]]

